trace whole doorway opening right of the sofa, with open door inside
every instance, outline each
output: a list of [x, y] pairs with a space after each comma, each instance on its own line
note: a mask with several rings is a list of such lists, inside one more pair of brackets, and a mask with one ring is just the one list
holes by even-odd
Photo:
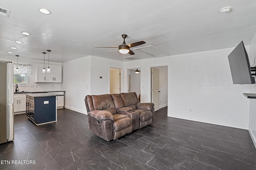
[[168, 106], [168, 66], [151, 67], [150, 90], [155, 111]]

